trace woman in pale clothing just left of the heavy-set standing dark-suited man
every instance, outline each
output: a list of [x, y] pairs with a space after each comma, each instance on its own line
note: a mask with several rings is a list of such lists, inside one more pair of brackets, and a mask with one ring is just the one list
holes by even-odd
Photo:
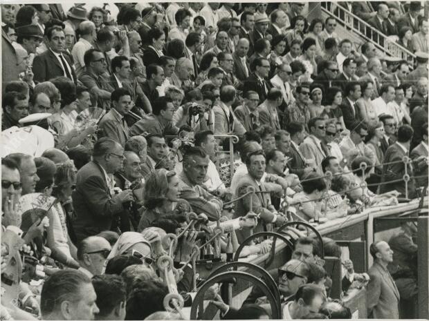
[[75, 234], [71, 225], [71, 215], [73, 208], [71, 206], [71, 193], [75, 188], [76, 168], [73, 162], [57, 164], [52, 196], [55, 196], [58, 202], [55, 202], [48, 211], [49, 227], [47, 230], [47, 244], [55, 253], [55, 259], [66, 266], [79, 268], [77, 263], [77, 249], [73, 244]]

